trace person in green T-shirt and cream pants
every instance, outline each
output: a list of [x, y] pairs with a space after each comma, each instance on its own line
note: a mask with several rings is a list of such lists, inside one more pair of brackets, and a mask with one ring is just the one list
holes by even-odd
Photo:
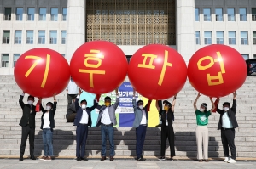
[[[213, 103], [212, 97], [210, 97], [211, 103], [212, 103], [212, 109], [207, 111], [207, 104], [202, 103], [200, 106], [200, 110], [197, 109], [196, 103], [199, 97], [201, 96], [201, 93], [197, 94], [197, 97], [194, 102], [194, 108], [195, 108], [195, 115], [196, 115], [196, 144], [197, 144], [197, 159], [199, 162], [202, 162], [204, 159], [206, 162], [208, 162], [208, 117], [212, 114], [212, 110], [215, 109], [215, 105]], [[202, 154], [202, 144], [204, 147], [204, 155]]]

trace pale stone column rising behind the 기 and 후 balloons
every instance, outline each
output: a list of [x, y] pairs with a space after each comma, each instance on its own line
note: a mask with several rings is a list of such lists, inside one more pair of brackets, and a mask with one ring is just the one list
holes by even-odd
[[74, 51], [84, 43], [85, 4], [85, 0], [68, 0], [67, 2], [66, 59], [68, 62], [72, 58]]

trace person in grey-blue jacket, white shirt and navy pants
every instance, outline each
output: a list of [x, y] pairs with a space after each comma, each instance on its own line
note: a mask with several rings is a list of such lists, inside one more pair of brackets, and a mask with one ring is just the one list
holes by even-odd
[[136, 128], [136, 155], [135, 160], [145, 161], [143, 158], [143, 145], [146, 137], [147, 126], [148, 126], [148, 110], [151, 104], [150, 99], [148, 99], [148, 104], [143, 107], [143, 100], [138, 100], [136, 103], [135, 99], [135, 89], [133, 89], [133, 109], [135, 114], [135, 119], [133, 121], [133, 127]]

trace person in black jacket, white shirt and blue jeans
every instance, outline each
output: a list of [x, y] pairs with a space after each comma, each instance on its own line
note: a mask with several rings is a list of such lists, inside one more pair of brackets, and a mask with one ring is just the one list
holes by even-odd
[[44, 143], [44, 156], [39, 160], [44, 161], [51, 161], [53, 156], [53, 145], [52, 145], [52, 135], [53, 135], [53, 128], [55, 127], [55, 112], [57, 101], [54, 95], [54, 104], [48, 102], [46, 104], [46, 110], [42, 105], [42, 99], [40, 100], [40, 110], [43, 112], [41, 116], [41, 129], [43, 130], [43, 143]]

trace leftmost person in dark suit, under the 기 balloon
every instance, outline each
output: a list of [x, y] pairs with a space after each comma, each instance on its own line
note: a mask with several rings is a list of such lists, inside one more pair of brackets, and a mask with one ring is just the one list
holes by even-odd
[[22, 117], [20, 119], [20, 126], [22, 127], [21, 132], [21, 144], [20, 144], [20, 161], [23, 161], [23, 155], [26, 148], [26, 139], [29, 135], [29, 145], [30, 145], [30, 159], [36, 160], [34, 156], [34, 138], [35, 138], [35, 116], [36, 116], [36, 106], [33, 105], [35, 98], [33, 96], [27, 97], [27, 104], [24, 104], [25, 92], [20, 95], [19, 104], [22, 109]]

